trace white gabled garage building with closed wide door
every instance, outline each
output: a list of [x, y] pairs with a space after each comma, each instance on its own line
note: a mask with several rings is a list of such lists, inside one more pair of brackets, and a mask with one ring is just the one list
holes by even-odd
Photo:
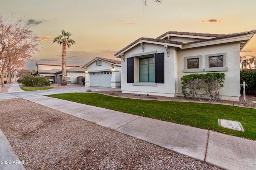
[[121, 86], [121, 61], [96, 57], [83, 68], [86, 68], [86, 87], [118, 88]]

